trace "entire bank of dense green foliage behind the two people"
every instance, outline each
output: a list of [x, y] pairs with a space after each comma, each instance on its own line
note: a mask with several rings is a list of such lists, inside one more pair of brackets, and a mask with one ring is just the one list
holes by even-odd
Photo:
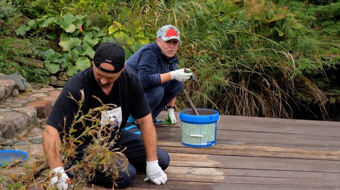
[[[173, 24], [183, 39], [179, 67], [190, 67], [199, 78], [198, 85], [185, 86], [196, 107], [278, 118], [292, 118], [301, 109], [325, 119], [340, 102], [336, 1], [1, 2], [2, 72], [48, 83], [49, 75], [72, 76], [90, 67], [104, 41], [121, 44], [128, 58], [154, 42], [159, 27]], [[39, 77], [27, 72], [35, 69], [29, 66], [8, 67], [15, 65], [12, 56], [22, 54], [10, 51], [17, 41], [33, 50], [26, 57], [44, 61]], [[188, 105], [181, 94], [178, 109]]]

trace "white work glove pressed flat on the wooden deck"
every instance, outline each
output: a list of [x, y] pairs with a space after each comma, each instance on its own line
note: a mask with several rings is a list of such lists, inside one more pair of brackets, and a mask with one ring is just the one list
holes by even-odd
[[158, 165], [158, 160], [153, 162], [146, 162], [146, 178], [144, 182], [151, 179], [156, 185], [164, 184], [167, 180], [166, 173]]

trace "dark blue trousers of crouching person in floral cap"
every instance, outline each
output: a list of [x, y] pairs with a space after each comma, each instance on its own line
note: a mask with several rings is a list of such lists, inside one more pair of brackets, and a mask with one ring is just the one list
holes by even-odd
[[148, 99], [152, 117], [156, 118], [164, 107], [183, 89], [184, 83], [177, 80], [169, 81], [167, 87], [158, 85], [148, 90], [145, 90], [145, 96]]

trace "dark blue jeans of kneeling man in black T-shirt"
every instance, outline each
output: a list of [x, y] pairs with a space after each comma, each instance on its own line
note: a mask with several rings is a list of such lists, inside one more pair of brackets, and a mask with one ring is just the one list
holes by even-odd
[[[119, 173], [118, 179], [115, 179], [118, 188], [124, 188], [132, 182], [137, 173], [146, 173], [146, 153], [142, 136], [127, 130], [121, 130], [121, 136], [114, 148], [119, 148], [120, 150], [118, 151], [122, 151], [126, 148], [122, 153], [128, 159], [128, 166], [123, 170], [124, 168], [117, 163], [116, 167], [118, 168]], [[157, 147], [157, 157], [158, 165], [162, 170], [165, 170], [170, 163], [169, 155]], [[112, 174], [106, 176], [105, 172], [97, 171], [92, 183], [95, 185], [112, 187]]]

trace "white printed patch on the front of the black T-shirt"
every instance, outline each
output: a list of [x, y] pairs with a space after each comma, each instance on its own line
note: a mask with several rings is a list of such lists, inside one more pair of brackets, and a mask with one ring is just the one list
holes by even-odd
[[119, 135], [117, 136], [117, 133], [119, 132], [121, 121], [121, 107], [109, 111], [102, 111], [100, 118], [100, 129], [103, 130], [105, 128], [105, 130], [103, 131], [105, 131], [106, 134], [109, 134], [111, 138], [119, 138]]

